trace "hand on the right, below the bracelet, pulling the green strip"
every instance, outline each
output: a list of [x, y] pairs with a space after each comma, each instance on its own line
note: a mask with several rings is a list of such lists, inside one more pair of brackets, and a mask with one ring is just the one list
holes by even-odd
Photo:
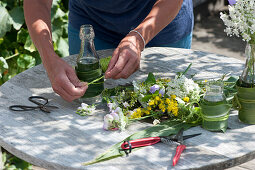
[[143, 42], [135, 32], [129, 33], [114, 50], [105, 78], [128, 78], [140, 68]]

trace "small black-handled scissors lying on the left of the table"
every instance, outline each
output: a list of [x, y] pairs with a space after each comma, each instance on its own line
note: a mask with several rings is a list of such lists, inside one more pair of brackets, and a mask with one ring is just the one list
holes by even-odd
[[51, 109], [58, 109], [57, 106], [47, 105], [49, 100], [41, 96], [31, 96], [28, 98], [28, 100], [34, 104], [37, 104], [38, 106], [12, 105], [9, 107], [9, 109], [12, 111], [30, 111], [40, 109], [46, 113], [50, 113]]

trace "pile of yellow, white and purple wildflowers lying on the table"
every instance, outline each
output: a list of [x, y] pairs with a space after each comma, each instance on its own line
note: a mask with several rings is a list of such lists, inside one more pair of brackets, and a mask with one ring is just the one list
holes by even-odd
[[201, 88], [184, 74], [170, 80], [149, 73], [145, 81], [133, 81], [129, 89], [117, 87], [112, 92], [103, 93], [110, 111], [104, 117], [105, 130], [123, 130], [130, 122], [146, 118], [153, 124], [163, 120], [193, 124], [201, 121]]

